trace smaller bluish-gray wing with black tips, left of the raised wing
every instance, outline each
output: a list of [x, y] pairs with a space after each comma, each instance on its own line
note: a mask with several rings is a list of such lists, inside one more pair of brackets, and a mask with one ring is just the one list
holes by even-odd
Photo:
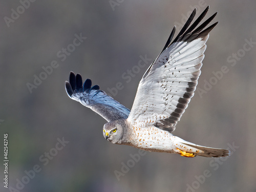
[[122, 104], [107, 95], [104, 91], [99, 90], [99, 86], [92, 86], [91, 79], [87, 79], [82, 84], [80, 74], [75, 75], [70, 72], [69, 82], [65, 82], [68, 96], [76, 101], [79, 101], [84, 106], [87, 106], [94, 112], [101, 115], [107, 121], [117, 119], [126, 119], [130, 110]]

